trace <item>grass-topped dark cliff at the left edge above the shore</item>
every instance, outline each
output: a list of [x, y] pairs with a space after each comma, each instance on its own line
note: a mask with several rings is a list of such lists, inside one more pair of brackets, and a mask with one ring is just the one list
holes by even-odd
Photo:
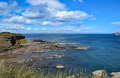
[[27, 43], [25, 36], [10, 32], [0, 33], [0, 51], [19, 47], [20, 44]]

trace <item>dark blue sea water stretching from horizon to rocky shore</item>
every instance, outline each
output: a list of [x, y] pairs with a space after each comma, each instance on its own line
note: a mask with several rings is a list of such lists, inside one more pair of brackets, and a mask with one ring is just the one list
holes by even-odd
[[52, 63], [66, 65], [66, 69], [82, 68], [88, 72], [106, 69], [120, 71], [120, 36], [112, 34], [24, 34], [28, 40], [43, 39], [78, 43], [90, 46], [87, 50], [67, 50], [67, 54]]

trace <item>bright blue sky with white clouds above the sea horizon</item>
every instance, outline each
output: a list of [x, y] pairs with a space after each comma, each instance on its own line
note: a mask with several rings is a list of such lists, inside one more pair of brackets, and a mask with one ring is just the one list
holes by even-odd
[[113, 33], [120, 0], [0, 0], [0, 32]]

